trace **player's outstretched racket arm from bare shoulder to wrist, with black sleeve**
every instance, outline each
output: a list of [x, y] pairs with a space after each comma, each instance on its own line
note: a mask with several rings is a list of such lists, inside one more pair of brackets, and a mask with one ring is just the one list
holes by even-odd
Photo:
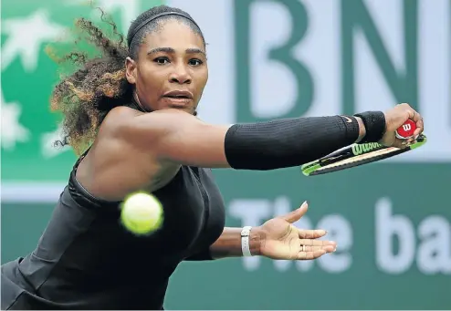
[[[383, 123], [383, 113], [377, 113]], [[164, 109], [127, 119], [117, 135], [159, 161], [208, 168], [274, 170], [316, 160], [365, 136], [360, 118], [276, 119], [216, 126], [183, 111]], [[383, 129], [377, 137], [381, 138]]]

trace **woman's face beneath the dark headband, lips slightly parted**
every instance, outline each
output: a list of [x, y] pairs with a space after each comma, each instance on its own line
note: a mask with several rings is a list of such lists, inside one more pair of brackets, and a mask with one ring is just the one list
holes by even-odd
[[182, 109], [194, 113], [208, 79], [205, 43], [175, 19], [145, 37], [138, 59], [127, 58], [127, 79], [148, 110]]

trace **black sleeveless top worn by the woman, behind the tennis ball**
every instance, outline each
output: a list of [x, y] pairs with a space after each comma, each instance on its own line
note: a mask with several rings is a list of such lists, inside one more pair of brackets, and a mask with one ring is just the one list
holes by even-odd
[[121, 202], [96, 199], [79, 184], [79, 161], [37, 248], [2, 265], [2, 309], [162, 309], [177, 265], [207, 252], [224, 229], [211, 170], [183, 166], [153, 192], [163, 227], [140, 237], [121, 226]]

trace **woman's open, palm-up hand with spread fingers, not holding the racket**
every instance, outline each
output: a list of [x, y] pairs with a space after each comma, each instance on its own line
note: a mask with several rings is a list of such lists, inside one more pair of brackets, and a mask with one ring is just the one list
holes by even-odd
[[335, 242], [316, 240], [327, 234], [325, 230], [303, 230], [293, 225], [307, 209], [308, 203], [304, 202], [299, 209], [263, 223], [260, 230], [265, 238], [260, 254], [271, 259], [311, 260], [335, 252]]

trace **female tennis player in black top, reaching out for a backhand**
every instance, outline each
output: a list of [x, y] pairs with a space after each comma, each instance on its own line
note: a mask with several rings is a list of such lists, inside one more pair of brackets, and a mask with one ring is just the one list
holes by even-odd
[[[307, 204], [261, 226], [225, 227], [211, 169], [294, 167], [355, 141], [401, 147], [394, 132], [407, 119], [415, 135], [423, 131], [407, 104], [385, 113], [208, 124], [195, 117], [208, 69], [191, 16], [154, 7], [131, 24], [126, 43], [89, 20], [78, 26], [102, 57], [66, 57], [79, 69], [58, 83], [51, 104], [64, 113], [63, 143], [79, 160], [37, 248], [2, 266], [3, 309], [163, 309], [168, 279], [184, 260], [319, 258], [336, 244], [316, 240], [323, 230], [293, 226]], [[163, 227], [149, 236], [119, 221], [120, 202], [136, 191], [163, 203]]]

